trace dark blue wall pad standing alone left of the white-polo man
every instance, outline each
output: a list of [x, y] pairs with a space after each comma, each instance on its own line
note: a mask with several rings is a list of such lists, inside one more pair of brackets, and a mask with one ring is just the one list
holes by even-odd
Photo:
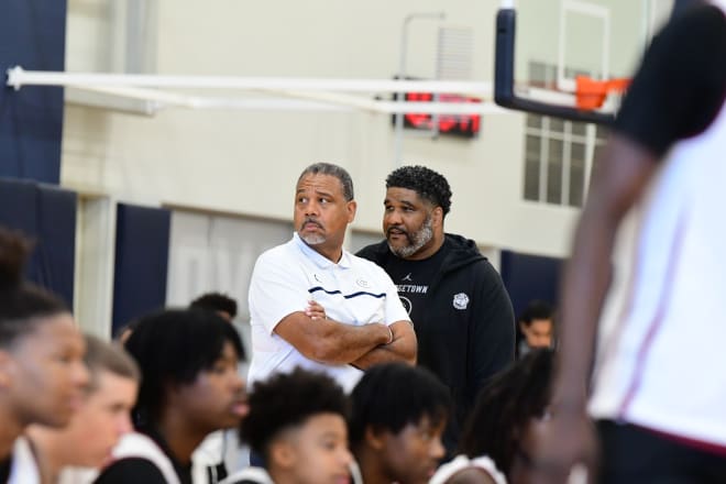
[[172, 212], [119, 204], [113, 276], [113, 332], [166, 301]]

